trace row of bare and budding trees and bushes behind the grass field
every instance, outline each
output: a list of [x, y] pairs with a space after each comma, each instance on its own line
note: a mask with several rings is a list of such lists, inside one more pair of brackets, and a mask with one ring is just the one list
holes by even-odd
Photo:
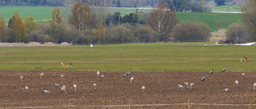
[[[254, 10], [254, 4], [254, 1], [250, 1], [250, 4], [247, 4], [251, 6], [250, 10], [244, 9], [244, 24], [230, 25], [227, 29], [226, 36], [229, 39], [255, 41], [255, 25], [250, 22], [254, 21], [254, 13], [249, 13]], [[15, 11], [7, 27], [3, 16], [0, 17], [0, 39], [1, 42], [66, 41], [74, 45], [209, 40], [209, 25], [191, 21], [178, 24], [176, 11], [165, 10], [163, 5], [158, 5], [148, 17], [141, 19], [136, 13], [125, 16], [121, 16], [119, 12], [95, 13], [88, 4], [76, 2], [70, 10], [67, 23], [63, 22], [59, 7], [54, 7], [52, 20], [48, 25], [37, 25], [32, 16], [22, 21], [18, 11]]]

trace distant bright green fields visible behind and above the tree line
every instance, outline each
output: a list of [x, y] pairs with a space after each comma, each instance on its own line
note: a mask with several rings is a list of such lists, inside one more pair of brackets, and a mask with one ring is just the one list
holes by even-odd
[[[0, 14], [2, 14], [6, 18], [6, 23], [10, 20], [11, 16], [14, 14], [14, 10], [18, 10], [18, 14], [22, 16], [22, 18], [26, 18], [27, 16], [32, 15], [34, 20], [42, 21], [51, 19], [51, 11], [53, 7], [50, 6], [0, 6]], [[217, 8], [218, 10], [220, 8]], [[68, 8], [61, 7], [62, 14], [64, 14], [64, 18], [67, 18], [66, 12], [69, 11]], [[107, 12], [114, 13], [119, 11], [122, 15], [127, 14], [129, 12], [135, 12], [135, 9], [130, 8], [108, 8]], [[150, 10], [148, 9], [140, 9], [140, 11], [144, 12], [139, 14], [140, 19], [145, 19]], [[28, 13], [30, 12], [30, 13]], [[212, 31], [216, 31], [218, 28], [216, 26], [216, 21], [222, 21], [222, 29], [226, 29], [228, 25], [232, 23], [240, 22], [240, 14], [217, 14], [217, 13], [176, 13], [178, 21], [194, 21], [194, 22], [203, 22], [210, 26]], [[41, 24], [41, 23], [38, 23]], [[43, 23], [45, 24], [45, 23]]]

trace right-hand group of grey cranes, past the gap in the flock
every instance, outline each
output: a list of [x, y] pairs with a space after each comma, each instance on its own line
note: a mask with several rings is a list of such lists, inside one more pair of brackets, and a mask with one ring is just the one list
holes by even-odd
[[[224, 67], [224, 68], [222, 69], [222, 72], [225, 72], [225, 71], [226, 71], [225, 65], [223, 65], [223, 67]], [[209, 72], [209, 74], [213, 74], [213, 73], [214, 73], [214, 68], [213, 68], [213, 70], [211, 70], [211, 71]], [[245, 73], [242, 72], [242, 77], [244, 77], [244, 76], [245, 76]], [[202, 79], [201, 79], [201, 81], [204, 81], [204, 80], [206, 80], [206, 76], [203, 76]], [[183, 82], [183, 84], [186, 86], [186, 88], [189, 88], [189, 84], [188, 84], [188, 83]], [[238, 80], [235, 80], [235, 81], [234, 81], [234, 84], [236, 84], [236, 86], [238, 87]], [[194, 84], [191, 83], [191, 84], [190, 84], [190, 90], [192, 89], [193, 86], [194, 86]], [[181, 84], [178, 84], [178, 88], [180, 88], [182, 91], [184, 90], [184, 88], [183, 88], [183, 86], [182, 86]], [[256, 83], [254, 83], [254, 90], [255, 90], [255, 88], [256, 88]], [[229, 89], [229, 88], [225, 88], [224, 91], [225, 91], [226, 93], [230, 93], [230, 89]]]

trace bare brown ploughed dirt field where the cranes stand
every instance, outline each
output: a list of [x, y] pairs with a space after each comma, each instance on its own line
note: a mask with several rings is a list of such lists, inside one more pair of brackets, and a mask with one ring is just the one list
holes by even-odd
[[[44, 72], [42, 80], [40, 73]], [[133, 72], [133, 84], [130, 77], [123, 77], [125, 72], [101, 72], [103, 80], [97, 78], [96, 72], [86, 71], [0, 71], [0, 103], [6, 107], [48, 107], [67, 108], [69, 102], [75, 106], [99, 105], [131, 105], [136, 104], [165, 104], [165, 103], [223, 103], [223, 104], [250, 104], [256, 103], [255, 72]], [[61, 80], [60, 76], [64, 75]], [[201, 82], [202, 76], [206, 80]], [[20, 75], [24, 77], [23, 82]], [[237, 88], [234, 81], [239, 81]], [[183, 82], [194, 83], [192, 90], [185, 88]], [[53, 84], [66, 86], [65, 95]], [[93, 84], [97, 84], [94, 91]], [[74, 92], [73, 84], [77, 84]], [[181, 91], [178, 84], [185, 88]], [[25, 86], [29, 87], [26, 93]], [[142, 86], [146, 90], [142, 92]], [[230, 88], [226, 94], [224, 88]], [[51, 90], [49, 95], [43, 90]], [[2, 107], [2, 106], [0, 106]], [[187, 105], [168, 106], [132, 106], [132, 109], [160, 109], [160, 108], [187, 108]], [[191, 108], [249, 108], [250, 106], [200, 106], [190, 105]], [[128, 108], [125, 107], [71, 107], [71, 108]], [[256, 106], [253, 106], [256, 108]]]

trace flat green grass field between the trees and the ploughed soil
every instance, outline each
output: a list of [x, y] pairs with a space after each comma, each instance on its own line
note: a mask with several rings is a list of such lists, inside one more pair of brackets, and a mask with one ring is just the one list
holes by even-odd
[[[207, 45], [206, 45], [207, 44]], [[153, 43], [1, 47], [0, 70], [255, 71], [255, 46]], [[243, 56], [247, 62], [239, 62]], [[74, 68], [62, 64], [74, 63]]]

